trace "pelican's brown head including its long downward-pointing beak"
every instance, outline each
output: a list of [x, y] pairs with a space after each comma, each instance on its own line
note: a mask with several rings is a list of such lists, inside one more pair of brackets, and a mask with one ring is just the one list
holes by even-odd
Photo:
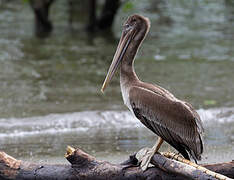
[[[123, 25], [122, 35], [116, 49], [114, 58], [106, 75], [105, 81], [102, 85], [101, 91], [104, 92], [105, 88], [111, 81], [120, 62], [126, 55], [135, 54], [141, 42], [144, 40], [146, 34], [150, 28], [150, 21], [140, 15], [132, 15], [128, 17], [127, 21]], [[133, 61], [134, 57], [131, 59]]]

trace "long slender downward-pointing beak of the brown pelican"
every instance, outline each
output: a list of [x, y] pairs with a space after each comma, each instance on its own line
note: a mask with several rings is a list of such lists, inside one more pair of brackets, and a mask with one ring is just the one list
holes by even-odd
[[118, 69], [119, 64], [122, 61], [133, 36], [134, 36], [134, 32], [132, 30], [130, 30], [127, 34], [122, 33], [122, 36], [120, 38], [114, 58], [112, 60], [112, 63], [106, 75], [105, 81], [103, 82], [102, 89], [101, 89], [102, 93], [104, 92], [107, 85], [109, 84], [112, 77], [114, 76], [116, 70]]

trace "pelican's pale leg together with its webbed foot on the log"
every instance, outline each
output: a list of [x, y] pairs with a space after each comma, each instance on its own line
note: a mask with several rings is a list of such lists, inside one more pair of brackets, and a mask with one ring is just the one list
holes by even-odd
[[159, 137], [156, 144], [152, 148], [143, 148], [136, 154], [136, 158], [138, 159], [139, 162], [141, 162], [140, 166], [143, 171], [147, 169], [151, 161], [151, 158], [156, 152], [158, 152], [162, 143], [163, 139]]

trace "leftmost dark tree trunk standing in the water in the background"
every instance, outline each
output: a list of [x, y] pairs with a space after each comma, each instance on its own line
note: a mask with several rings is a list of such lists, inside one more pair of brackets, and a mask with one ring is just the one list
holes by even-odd
[[30, 0], [35, 17], [35, 34], [38, 37], [47, 37], [53, 29], [49, 20], [49, 10], [54, 0]]

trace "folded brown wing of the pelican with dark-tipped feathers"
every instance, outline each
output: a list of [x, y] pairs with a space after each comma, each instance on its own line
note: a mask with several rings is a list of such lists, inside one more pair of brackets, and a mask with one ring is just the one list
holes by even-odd
[[185, 158], [187, 151], [200, 159], [203, 151], [202, 125], [199, 115], [185, 102], [167, 98], [145, 87], [133, 86], [129, 101], [135, 116]]

